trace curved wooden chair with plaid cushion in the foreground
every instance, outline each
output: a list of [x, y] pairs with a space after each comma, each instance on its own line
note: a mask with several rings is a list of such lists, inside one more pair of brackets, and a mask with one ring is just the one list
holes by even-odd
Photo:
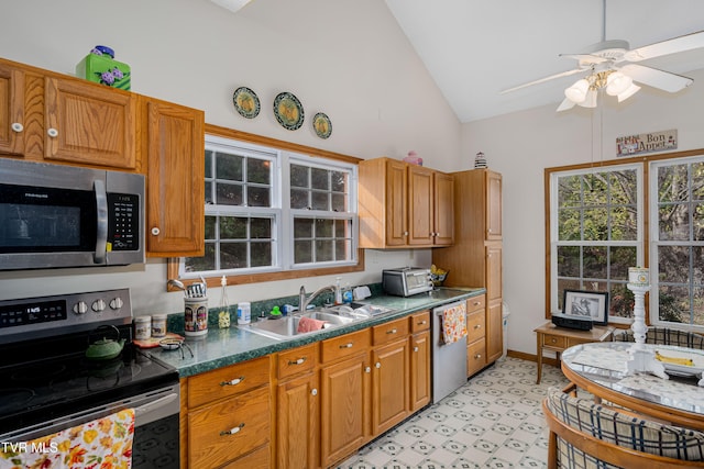
[[704, 433], [646, 420], [550, 388], [548, 469], [704, 468]]

